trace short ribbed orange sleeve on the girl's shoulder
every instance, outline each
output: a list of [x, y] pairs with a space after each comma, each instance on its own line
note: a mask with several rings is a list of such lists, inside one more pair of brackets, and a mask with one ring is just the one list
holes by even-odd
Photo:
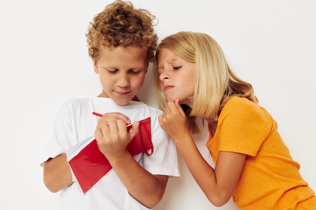
[[226, 104], [218, 122], [220, 151], [256, 156], [272, 129], [270, 115], [257, 104], [238, 98]]

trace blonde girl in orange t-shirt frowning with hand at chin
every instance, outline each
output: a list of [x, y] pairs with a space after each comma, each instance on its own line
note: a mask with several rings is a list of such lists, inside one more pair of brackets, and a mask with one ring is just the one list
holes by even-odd
[[[230, 197], [241, 209], [316, 209], [316, 196], [299, 173], [277, 130], [258, 106], [251, 84], [230, 69], [219, 44], [204, 33], [179, 32], [156, 51], [154, 83], [163, 129], [210, 202]], [[213, 169], [191, 133], [208, 122]]]

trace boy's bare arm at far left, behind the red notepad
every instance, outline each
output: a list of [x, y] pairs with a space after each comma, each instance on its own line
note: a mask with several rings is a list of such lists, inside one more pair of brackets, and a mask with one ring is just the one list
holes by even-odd
[[57, 156], [44, 163], [43, 180], [51, 192], [58, 192], [73, 183], [66, 155]]

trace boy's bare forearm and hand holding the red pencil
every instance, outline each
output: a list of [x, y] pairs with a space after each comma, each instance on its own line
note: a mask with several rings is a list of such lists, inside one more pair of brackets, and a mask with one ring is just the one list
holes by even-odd
[[106, 117], [100, 118], [94, 132], [99, 150], [107, 157], [128, 192], [146, 207], [153, 208], [164, 195], [168, 176], [152, 175], [126, 150], [139, 130], [138, 121], [127, 131], [124, 120], [106, 120]]

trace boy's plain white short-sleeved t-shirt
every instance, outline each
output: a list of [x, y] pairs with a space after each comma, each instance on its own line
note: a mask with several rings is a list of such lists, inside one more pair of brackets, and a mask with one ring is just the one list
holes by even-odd
[[[93, 111], [101, 114], [120, 112], [128, 116], [132, 123], [150, 116], [153, 154], [147, 156], [142, 153], [134, 156], [134, 159], [151, 174], [167, 175], [170, 178], [180, 176], [176, 147], [161, 128], [157, 118], [162, 111], [137, 101], [130, 101], [123, 106], [117, 105], [111, 98], [66, 101], [55, 118], [52, 137], [41, 163], [66, 154], [71, 147], [93, 136], [99, 119], [98, 116], [92, 115]], [[149, 209], [129, 194], [113, 169], [86, 193], [82, 192], [76, 181], [62, 189], [60, 203], [61, 209], [65, 210]]]

